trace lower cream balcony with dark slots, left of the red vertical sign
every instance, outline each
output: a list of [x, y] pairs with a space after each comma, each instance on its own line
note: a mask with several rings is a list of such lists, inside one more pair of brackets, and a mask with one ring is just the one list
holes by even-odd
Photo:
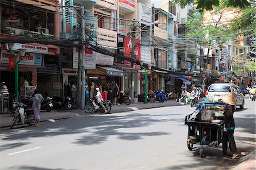
[[117, 47], [117, 32], [98, 27], [97, 43]]

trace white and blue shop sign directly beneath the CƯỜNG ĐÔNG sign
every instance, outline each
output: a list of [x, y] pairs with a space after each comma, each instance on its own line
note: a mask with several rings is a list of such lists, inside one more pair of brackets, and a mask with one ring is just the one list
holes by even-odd
[[[16, 54], [17, 54], [18, 60], [19, 60], [21, 57], [18, 55], [18, 53], [16, 53]], [[0, 63], [9, 63], [9, 59], [14, 58], [14, 57], [15, 56], [12, 53], [7, 52], [7, 50], [2, 50]], [[43, 59], [42, 54], [26, 52], [25, 56], [23, 57], [23, 59], [20, 61], [19, 64], [41, 66], [42, 59]]]

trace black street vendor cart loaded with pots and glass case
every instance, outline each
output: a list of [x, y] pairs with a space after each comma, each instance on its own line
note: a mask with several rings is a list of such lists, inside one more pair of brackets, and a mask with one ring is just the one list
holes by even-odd
[[[200, 156], [204, 156], [204, 145], [219, 146], [222, 143], [223, 154], [226, 155], [228, 139], [225, 132], [223, 111], [225, 103], [199, 103], [197, 109], [185, 117], [188, 125], [187, 146], [193, 149], [194, 144], [200, 144]], [[203, 108], [202, 108], [203, 107]]]

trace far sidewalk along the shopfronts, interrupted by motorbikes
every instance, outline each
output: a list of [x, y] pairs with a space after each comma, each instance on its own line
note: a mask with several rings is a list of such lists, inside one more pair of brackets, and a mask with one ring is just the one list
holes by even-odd
[[[131, 103], [130, 105], [117, 105], [112, 106], [110, 113], [119, 113], [125, 111], [133, 111], [140, 109], [151, 109], [156, 107], [166, 107], [166, 106], [182, 106], [182, 103], [176, 102], [175, 100], [165, 101], [163, 103], [159, 103], [158, 101], [154, 103], [144, 104], [142, 102]], [[73, 110], [52, 110], [51, 112], [40, 111], [40, 121], [48, 121], [48, 119], [68, 119], [73, 117], [82, 117], [82, 116], [91, 116], [94, 114], [86, 114], [84, 110], [81, 109], [73, 109]], [[0, 127], [8, 127], [11, 126], [11, 121], [13, 120], [12, 114], [0, 114]]]

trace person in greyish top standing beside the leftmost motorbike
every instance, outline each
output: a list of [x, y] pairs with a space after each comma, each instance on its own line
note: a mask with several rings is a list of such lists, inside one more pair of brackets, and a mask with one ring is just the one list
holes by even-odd
[[40, 94], [38, 89], [34, 90], [34, 98], [33, 98], [33, 109], [34, 109], [34, 115], [36, 118], [36, 124], [35, 126], [40, 126], [40, 109], [41, 109], [41, 103], [43, 102], [44, 98]]

